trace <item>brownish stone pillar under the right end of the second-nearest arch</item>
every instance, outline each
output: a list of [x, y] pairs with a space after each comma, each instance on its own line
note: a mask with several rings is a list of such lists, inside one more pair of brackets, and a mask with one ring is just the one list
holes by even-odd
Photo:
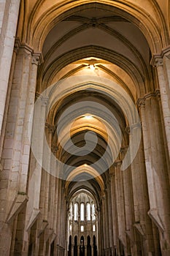
[[[152, 222], [158, 227], [162, 255], [169, 255], [169, 184], [158, 99], [148, 95], [140, 104], [144, 157]], [[166, 244], [166, 246], [165, 246]]]

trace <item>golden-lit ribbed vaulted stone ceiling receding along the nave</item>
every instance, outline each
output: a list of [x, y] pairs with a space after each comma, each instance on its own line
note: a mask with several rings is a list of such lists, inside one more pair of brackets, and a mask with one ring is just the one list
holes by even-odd
[[[18, 37], [42, 52], [37, 91], [49, 89], [47, 122], [65, 165], [66, 189], [101, 192], [110, 159], [128, 146], [126, 129], [136, 121], [128, 106], [157, 86], [150, 59], [169, 44], [169, 1], [32, 0], [21, 1], [20, 9]], [[95, 113], [96, 105], [101, 108]], [[71, 112], [62, 117], [67, 109]], [[87, 132], [95, 132], [96, 139], [85, 140]], [[96, 146], [88, 152], [85, 145], [91, 141]]]

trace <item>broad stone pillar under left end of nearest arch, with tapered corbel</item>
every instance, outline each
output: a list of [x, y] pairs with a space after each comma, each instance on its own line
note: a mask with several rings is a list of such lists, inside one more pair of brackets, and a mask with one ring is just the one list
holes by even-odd
[[[1, 180], [6, 180], [6, 187], [3, 188], [6, 192], [1, 191], [6, 201], [3, 203], [1, 200], [5, 206], [1, 217], [3, 215], [3, 218], [6, 218], [8, 225], [12, 223], [18, 211], [22, 210], [28, 200], [26, 196], [30, 150], [28, 123], [31, 109], [34, 106], [37, 70], [37, 64], [32, 64], [33, 55], [31, 48], [20, 45], [18, 42], [1, 159], [4, 169], [1, 172]], [[36, 56], [36, 59], [39, 59], [39, 56]], [[33, 76], [34, 79], [32, 79]], [[7, 252], [3, 254], [7, 255]]]

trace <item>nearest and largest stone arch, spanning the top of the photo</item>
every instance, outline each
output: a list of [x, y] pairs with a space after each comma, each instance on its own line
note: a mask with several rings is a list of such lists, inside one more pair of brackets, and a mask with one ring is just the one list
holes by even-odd
[[[127, 18], [136, 26], [138, 26], [139, 29], [142, 30], [143, 34], [147, 38], [152, 53], [160, 52], [161, 48], [163, 48], [163, 46], [165, 47], [168, 44], [166, 39], [167, 36], [163, 35], [163, 31], [162, 34], [159, 31], [158, 23], [163, 23], [160, 12], [159, 21], [158, 23], [155, 23], [155, 20], [151, 18], [151, 16], [146, 12], [146, 10], [139, 10], [139, 7], [136, 4], [124, 4], [123, 2], [117, 4], [117, 1], [107, 1], [106, 3], [106, 1], [99, 0], [90, 1], [90, 4], [87, 3], [87, 1], [81, 1], [81, 3], [74, 1], [72, 2], [72, 4], [68, 4], [66, 12], [62, 10], [62, 6], [58, 8], [56, 8], [56, 6], [53, 6], [50, 8], [50, 10], [47, 10], [45, 13], [43, 13], [43, 16], [39, 18], [39, 20], [37, 20], [36, 23], [34, 23], [34, 16], [36, 15], [36, 11], [38, 9], [36, 11], [34, 10], [34, 13], [31, 15], [31, 18], [28, 23], [28, 38], [33, 38], [33, 41], [28, 43], [30, 45], [33, 45], [35, 50], [42, 50], [42, 45], [45, 40], [45, 37], [47, 36], [48, 32], [53, 28], [53, 26], [55, 26], [56, 23], [60, 22], [60, 20], [63, 20], [63, 18], [72, 15], [74, 12], [77, 12], [77, 10], [80, 10], [80, 7], [93, 8], [94, 6], [99, 8], [100, 6], [102, 6], [106, 9], [109, 8], [109, 10], [112, 8], [112, 10], [114, 10], [115, 13], [121, 15], [124, 18]], [[66, 10], [66, 5], [64, 10]], [[45, 29], [45, 24], [47, 25], [46, 20], [49, 20], [49, 23]], [[165, 25], [163, 24], [162, 27], [164, 26]], [[162, 40], [161, 37], [165, 39]]]

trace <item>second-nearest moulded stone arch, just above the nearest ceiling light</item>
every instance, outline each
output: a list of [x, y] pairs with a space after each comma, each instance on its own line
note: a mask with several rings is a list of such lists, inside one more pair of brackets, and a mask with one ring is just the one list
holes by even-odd
[[[113, 50], [108, 50], [106, 48], [98, 47], [95, 45], [90, 45], [84, 48], [78, 48], [76, 50], [71, 50], [65, 53], [63, 56], [59, 57], [49, 67], [44, 71], [44, 74], [41, 75], [42, 85], [40, 91], [46, 89], [53, 82], [55, 75], [63, 67], [68, 64], [71, 64], [74, 61], [95, 56], [99, 59], [107, 60], [113, 64], [116, 64], [118, 67], [121, 67], [125, 72], [130, 75], [131, 79], [134, 80], [136, 85], [138, 97], [146, 94], [147, 91], [150, 91], [150, 83], [147, 83], [147, 79], [144, 80], [144, 76], [141, 70], [136, 67], [132, 61], [127, 59], [125, 56], [117, 54]], [[144, 74], [148, 77], [147, 70], [144, 69]], [[40, 82], [41, 84], [41, 82]]]

